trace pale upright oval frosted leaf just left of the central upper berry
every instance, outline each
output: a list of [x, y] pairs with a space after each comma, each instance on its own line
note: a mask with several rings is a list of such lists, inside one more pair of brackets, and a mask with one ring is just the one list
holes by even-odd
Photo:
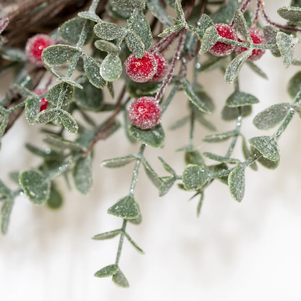
[[[143, 56], [143, 55], [142, 55]], [[113, 82], [113, 80], [118, 79], [122, 73], [122, 64], [117, 52], [110, 52], [104, 58], [100, 66], [101, 77], [108, 81]]]

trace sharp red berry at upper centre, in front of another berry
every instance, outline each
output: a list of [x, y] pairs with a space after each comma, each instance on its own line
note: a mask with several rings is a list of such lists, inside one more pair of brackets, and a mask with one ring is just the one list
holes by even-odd
[[126, 74], [133, 82], [147, 82], [153, 78], [158, 69], [158, 63], [154, 55], [144, 51], [142, 58], [131, 54], [125, 61]]

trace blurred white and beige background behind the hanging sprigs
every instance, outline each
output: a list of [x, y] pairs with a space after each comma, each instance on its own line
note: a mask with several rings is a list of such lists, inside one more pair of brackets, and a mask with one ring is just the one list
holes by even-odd
[[[266, 10], [282, 22], [276, 10], [289, 1], [266, 1]], [[301, 57], [300, 45], [295, 57]], [[240, 86], [259, 98], [253, 114], [243, 119], [247, 138], [265, 135], [252, 125], [252, 119], [269, 105], [288, 102], [286, 85], [299, 68], [284, 69], [280, 58], [268, 51], [256, 62], [268, 75], [264, 80], [244, 66]], [[4, 95], [10, 75], [1, 77]], [[209, 117], [220, 132], [234, 128], [234, 122], [220, 120], [220, 113], [233, 87], [224, 82], [219, 70], [199, 77], [216, 103]], [[115, 88], [121, 86], [116, 82]], [[109, 96], [108, 96], [109, 97]], [[157, 159], [163, 157], [178, 174], [184, 168], [183, 153], [175, 152], [188, 142], [188, 125], [172, 132], [167, 127], [187, 110], [186, 97], [178, 93], [163, 118], [166, 143], [162, 149], [147, 148], [145, 155], [154, 169], [165, 172]], [[24, 149], [30, 142], [41, 144], [41, 126], [29, 126], [25, 117], [3, 138], [0, 152], [0, 178], [11, 185], [8, 172], [28, 169], [39, 159]], [[107, 208], [128, 193], [133, 164], [120, 169], [100, 167], [104, 159], [138, 151], [123, 130], [96, 146], [93, 165], [94, 186], [88, 196], [73, 188], [64, 194], [64, 205], [54, 211], [34, 206], [25, 197], [16, 200], [8, 235], [0, 236], [0, 293], [5, 301], [96, 301], [96, 300], [300, 300], [301, 269], [301, 120], [296, 114], [281, 136], [281, 163], [276, 170], [259, 165], [259, 171], [246, 170], [246, 191], [242, 203], [235, 202], [228, 187], [219, 181], [205, 191], [200, 218], [198, 199], [188, 202], [193, 192], [176, 185], [164, 197], [140, 170], [135, 191], [143, 222], [129, 224], [133, 240], [144, 250], [140, 255], [125, 240], [120, 268], [130, 288], [116, 287], [111, 278], [93, 274], [115, 261], [118, 238], [95, 241], [95, 234], [120, 228], [122, 220], [108, 215]], [[275, 130], [272, 129], [270, 133]], [[197, 126], [195, 144], [201, 152], [224, 154], [229, 142], [206, 144], [210, 132]], [[242, 159], [241, 141], [234, 157]], [[209, 163], [209, 161], [208, 161]]]

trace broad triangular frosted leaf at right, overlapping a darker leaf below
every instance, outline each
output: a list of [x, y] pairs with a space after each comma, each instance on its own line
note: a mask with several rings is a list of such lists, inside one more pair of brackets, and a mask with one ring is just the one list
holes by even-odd
[[270, 136], [253, 137], [248, 140], [249, 143], [256, 148], [264, 158], [277, 161], [280, 158], [277, 141]]

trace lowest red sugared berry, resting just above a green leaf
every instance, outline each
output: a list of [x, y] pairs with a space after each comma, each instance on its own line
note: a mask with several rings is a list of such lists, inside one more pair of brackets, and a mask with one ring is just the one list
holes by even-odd
[[160, 105], [150, 96], [135, 99], [128, 108], [131, 123], [143, 130], [152, 129], [160, 123], [161, 113]]

